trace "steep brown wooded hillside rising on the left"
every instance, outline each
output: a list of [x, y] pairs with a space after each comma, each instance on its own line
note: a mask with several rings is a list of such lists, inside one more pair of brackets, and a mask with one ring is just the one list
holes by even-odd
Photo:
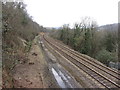
[[13, 87], [12, 71], [27, 61], [32, 40], [44, 28], [28, 15], [22, 2], [2, 3], [3, 87]]

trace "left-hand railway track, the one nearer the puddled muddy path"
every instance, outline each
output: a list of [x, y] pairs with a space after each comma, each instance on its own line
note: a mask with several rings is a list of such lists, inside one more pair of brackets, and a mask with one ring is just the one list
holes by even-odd
[[[111, 79], [105, 77], [104, 75], [102, 75], [101, 73], [96, 71], [94, 68], [90, 68], [89, 65], [91, 63], [87, 62], [87, 60], [86, 60], [86, 63], [89, 63], [88, 65], [86, 65], [85, 62], [78, 61], [78, 59], [80, 57], [78, 55], [77, 55], [77, 57], [75, 57], [76, 53], [74, 53], [73, 51], [71, 51], [71, 50], [69, 50], [68, 48], [65, 48], [65, 47], [63, 48], [63, 46], [60, 46], [58, 44], [55, 44], [55, 42], [53, 42], [52, 40], [50, 40], [46, 37], [43, 37], [43, 38], [44, 38], [45, 42], [47, 42], [49, 45], [51, 45], [55, 50], [60, 52], [64, 57], [69, 59], [69, 61], [71, 61], [74, 65], [76, 65], [78, 68], [80, 68], [81, 70], [86, 72], [89, 76], [94, 78], [96, 81], [98, 81], [100, 84], [102, 84], [106, 88], [120, 88], [120, 85], [118, 85], [116, 82], [114, 82]], [[68, 51], [69, 51], [69, 53], [68, 53]], [[70, 52], [72, 52], [72, 53], [70, 53]], [[98, 68], [96, 65], [94, 65], [94, 67]], [[108, 73], [108, 74], [111, 75], [114, 78], [119, 79], [119, 77], [115, 76], [114, 74], [111, 74], [111, 73]]]

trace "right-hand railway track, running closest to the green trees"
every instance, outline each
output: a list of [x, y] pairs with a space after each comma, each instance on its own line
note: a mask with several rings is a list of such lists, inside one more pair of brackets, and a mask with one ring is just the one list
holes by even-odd
[[[50, 38], [49, 38], [50, 39]], [[52, 40], [50, 40], [52, 42]], [[63, 46], [60, 43], [54, 42], [56, 43], [57, 46], [61, 47], [63, 50], [66, 50], [67, 52], [69, 52], [70, 54], [76, 56], [78, 59], [80, 59], [80, 61], [82, 60], [84, 63], [87, 63], [89, 65], [91, 65], [92, 68], [95, 67], [95, 69], [97, 71], [101, 71], [103, 75], [106, 75], [107, 77], [109, 77], [110, 79], [112, 79], [113, 81], [118, 81], [120, 80], [120, 73], [117, 71], [114, 71], [108, 67], [106, 67], [105, 65], [101, 64], [100, 62], [98, 62], [97, 60], [92, 60], [89, 58], [86, 58], [85, 56], [81, 55], [80, 53], [66, 47]], [[81, 61], [81, 62], [82, 62]], [[97, 68], [96, 68], [97, 67]]]

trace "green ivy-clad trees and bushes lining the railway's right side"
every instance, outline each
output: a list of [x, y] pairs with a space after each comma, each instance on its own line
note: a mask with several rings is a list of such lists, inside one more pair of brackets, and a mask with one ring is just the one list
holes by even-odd
[[54, 30], [51, 36], [69, 45], [74, 50], [96, 58], [109, 66], [118, 61], [118, 35], [116, 30], [98, 28], [97, 22], [85, 17], [71, 29], [69, 24]]

